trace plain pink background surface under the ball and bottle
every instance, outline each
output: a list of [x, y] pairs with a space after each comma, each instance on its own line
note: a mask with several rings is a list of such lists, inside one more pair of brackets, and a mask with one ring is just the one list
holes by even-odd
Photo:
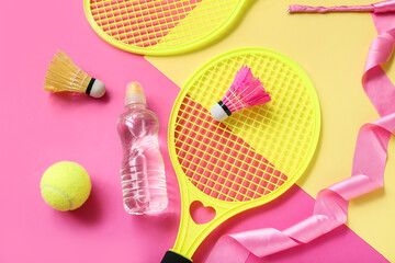
[[[178, 231], [180, 197], [167, 152], [167, 126], [179, 88], [143, 56], [102, 41], [86, 21], [82, 0], [4, 1], [0, 24], [0, 262], [160, 262]], [[18, 12], [16, 12], [18, 11]], [[57, 49], [106, 84], [95, 100], [42, 89]], [[122, 206], [116, 119], [128, 81], [145, 87], [160, 122], [169, 207], [159, 216], [131, 216]], [[80, 209], [59, 213], [41, 197], [42, 173], [61, 160], [91, 175]], [[293, 186], [279, 199], [224, 224], [200, 247], [204, 262], [217, 237], [261, 227], [283, 229], [312, 214], [314, 199]], [[300, 248], [249, 262], [387, 262], [346, 226]]]

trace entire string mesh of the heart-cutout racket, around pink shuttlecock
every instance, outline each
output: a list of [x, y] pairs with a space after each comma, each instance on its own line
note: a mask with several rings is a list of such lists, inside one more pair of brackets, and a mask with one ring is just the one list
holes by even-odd
[[[217, 123], [205, 108], [222, 99], [242, 65], [264, 83], [272, 101]], [[246, 202], [297, 179], [319, 130], [314, 90], [301, 76], [287, 60], [264, 52], [224, 57], [196, 76], [184, 88], [173, 128], [178, 161], [189, 181], [214, 198]]]

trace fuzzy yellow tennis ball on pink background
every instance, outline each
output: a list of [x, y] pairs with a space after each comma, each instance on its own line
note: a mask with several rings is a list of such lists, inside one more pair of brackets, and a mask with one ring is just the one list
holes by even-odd
[[78, 163], [61, 161], [49, 167], [40, 183], [44, 201], [61, 211], [74, 210], [88, 199], [92, 183]]

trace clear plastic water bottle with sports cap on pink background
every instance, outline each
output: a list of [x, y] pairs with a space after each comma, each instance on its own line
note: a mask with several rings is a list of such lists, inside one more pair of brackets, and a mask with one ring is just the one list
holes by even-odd
[[123, 147], [121, 181], [128, 214], [154, 214], [168, 205], [163, 159], [158, 146], [158, 118], [146, 108], [138, 82], [127, 84], [124, 112], [117, 121]]

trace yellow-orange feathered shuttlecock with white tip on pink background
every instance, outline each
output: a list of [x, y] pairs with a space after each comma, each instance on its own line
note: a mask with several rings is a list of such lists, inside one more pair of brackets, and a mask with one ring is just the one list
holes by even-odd
[[101, 98], [105, 93], [104, 83], [79, 67], [63, 52], [55, 54], [45, 77], [44, 90], [53, 92], [70, 91]]

